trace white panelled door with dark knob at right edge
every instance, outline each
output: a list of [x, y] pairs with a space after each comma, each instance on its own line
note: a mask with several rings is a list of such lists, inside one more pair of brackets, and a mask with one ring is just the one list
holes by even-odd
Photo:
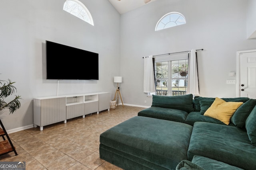
[[256, 99], [256, 50], [238, 51], [238, 97]]

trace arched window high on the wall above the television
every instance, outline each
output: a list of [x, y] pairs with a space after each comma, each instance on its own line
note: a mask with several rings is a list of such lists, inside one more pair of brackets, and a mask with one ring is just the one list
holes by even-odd
[[89, 10], [79, 0], [66, 0], [63, 10], [90, 23], [91, 25], [94, 25]]

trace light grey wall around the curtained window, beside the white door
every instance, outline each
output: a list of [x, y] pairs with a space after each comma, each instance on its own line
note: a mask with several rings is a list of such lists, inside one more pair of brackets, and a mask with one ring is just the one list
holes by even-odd
[[[236, 97], [236, 51], [256, 48], [246, 39], [244, 0], [158, 0], [121, 15], [122, 98], [126, 104], [151, 106], [143, 93], [143, 59], [148, 55], [204, 49], [198, 52], [200, 96]], [[180, 12], [187, 23], [154, 31], [158, 20]], [[146, 104], [144, 101], [146, 100]]]

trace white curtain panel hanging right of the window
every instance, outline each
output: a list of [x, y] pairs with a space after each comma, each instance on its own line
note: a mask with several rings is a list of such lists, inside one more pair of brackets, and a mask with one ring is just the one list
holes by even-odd
[[187, 94], [199, 95], [196, 50], [189, 51], [188, 57], [188, 88]]

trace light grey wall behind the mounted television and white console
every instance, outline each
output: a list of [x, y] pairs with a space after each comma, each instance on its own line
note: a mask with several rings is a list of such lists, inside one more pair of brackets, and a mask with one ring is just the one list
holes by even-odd
[[59, 95], [104, 91], [113, 97], [113, 77], [120, 74], [120, 14], [107, 0], [80, 1], [94, 26], [62, 10], [65, 0], [1, 1], [0, 79], [15, 81], [22, 96], [21, 108], [2, 119], [7, 130], [33, 124], [33, 98], [57, 94], [57, 80], [43, 76], [46, 40], [99, 53], [99, 80], [60, 80]]

